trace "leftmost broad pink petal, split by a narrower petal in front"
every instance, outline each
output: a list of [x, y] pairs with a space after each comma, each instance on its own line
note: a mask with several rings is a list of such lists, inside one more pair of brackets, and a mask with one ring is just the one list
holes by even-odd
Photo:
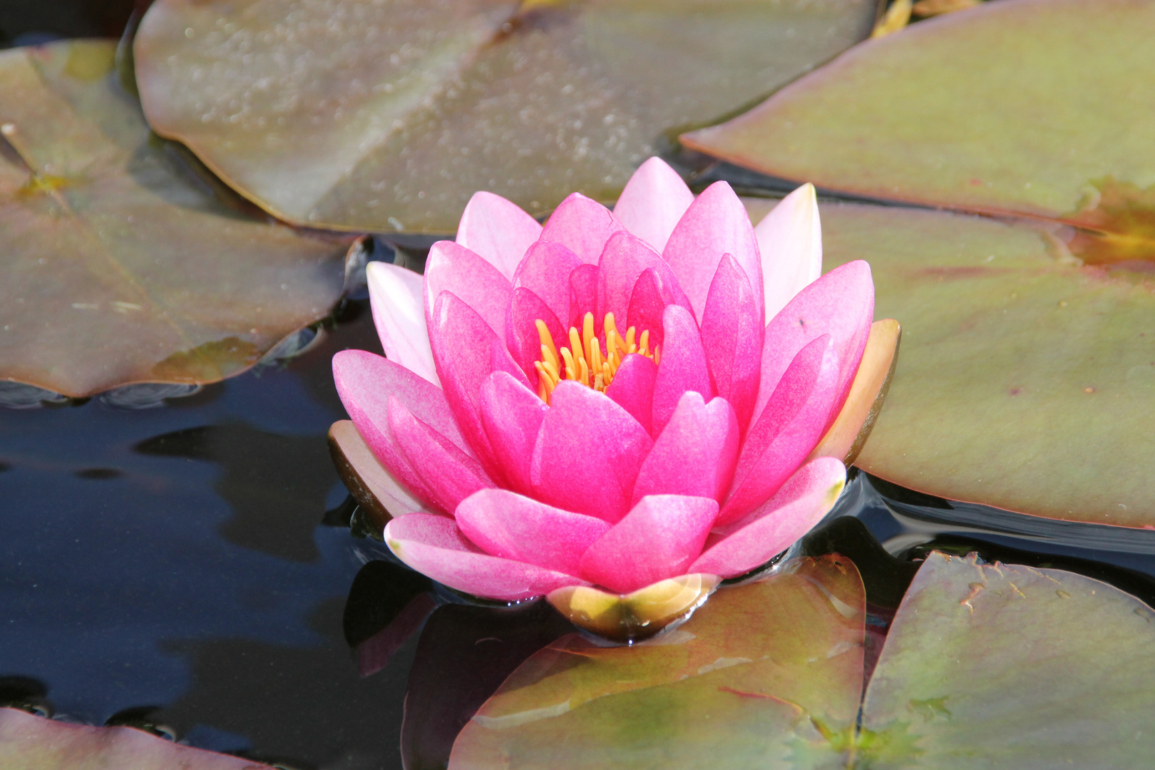
[[393, 438], [389, 396], [396, 397], [417, 418], [468, 454], [469, 447], [457, 431], [445, 393], [400, 364], [364, 350], [336, 353], [333, 380], [357, 432], [385, 469], [422, 503], [437, 508], [434, 495]]

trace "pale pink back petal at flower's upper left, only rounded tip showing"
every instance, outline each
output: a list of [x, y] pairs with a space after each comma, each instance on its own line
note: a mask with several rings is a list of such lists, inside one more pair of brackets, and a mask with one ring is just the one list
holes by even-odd
[[457, 242], [511, 281], [526, 249], [541, 234], [542, 225], [534, 217], [500, 195], [485, 192], [474, 193], [457, 223]]

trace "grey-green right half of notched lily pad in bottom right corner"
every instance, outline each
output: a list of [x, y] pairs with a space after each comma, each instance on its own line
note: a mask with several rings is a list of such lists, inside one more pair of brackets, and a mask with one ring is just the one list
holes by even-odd
[[1155, 612], [1058, 569], [931, 554], [863, 703], [873, 770], [1145, 767]]

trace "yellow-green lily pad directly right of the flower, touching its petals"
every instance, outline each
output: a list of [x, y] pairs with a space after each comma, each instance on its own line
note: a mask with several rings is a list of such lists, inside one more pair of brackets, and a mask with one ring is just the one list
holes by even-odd
[[1023, 222], [827, 204], [822, 236], [825, 267], [867, 260], [875, 313], [903, 327], [860, 468], [951, 500], [1155, 528], [1149, 282], [1080, 266]]

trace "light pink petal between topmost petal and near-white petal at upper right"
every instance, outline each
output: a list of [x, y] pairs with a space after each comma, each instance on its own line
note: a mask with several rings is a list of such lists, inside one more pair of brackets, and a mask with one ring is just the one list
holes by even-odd
[[[670, 236], [662, 256], [678, 276], [698, 319], [706, 309], [710, 282], [723, 254], [742, 266], [762, 313], [762, 264], [750, 216], [724, 181], [714, 182], [691, 204]], [[761, 316], [765, 317], [765, 316]]]

